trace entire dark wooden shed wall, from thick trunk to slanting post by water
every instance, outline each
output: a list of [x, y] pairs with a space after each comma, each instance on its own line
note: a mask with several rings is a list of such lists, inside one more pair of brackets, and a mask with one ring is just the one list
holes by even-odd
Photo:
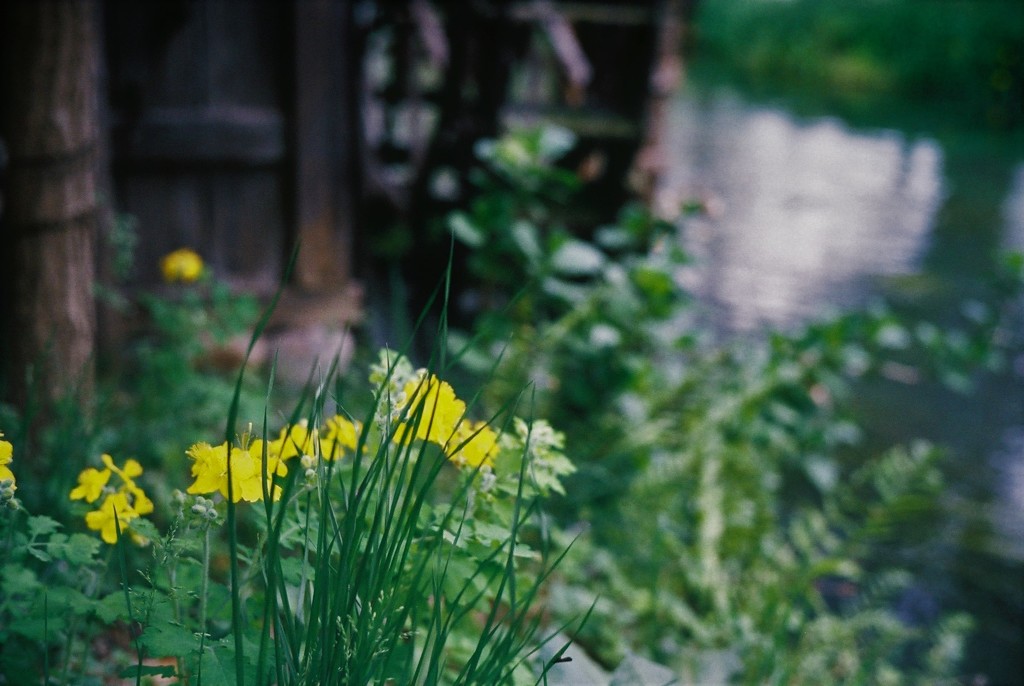
[[[561, 45], [574, 52], [563, 49], [560, 59], [536, 52], [519, 57], [525, 63], [513, 70], [513, 81], [516, 74], [520, 85], [536, 86], [540, 79], [555, 92], [531, 101], [530, 93], [516, 94], [513, 83], [503, 117], [506, 123], [562, 121], [575, 129], [579, 155], [596, 156], [608, 171], [589, 186], [595, 207], [615, 205], [626, 195], [623, 176], [644, 137], [649, 88], [644, 77], [666, 8], [678, 1], [495, 4], [516, 31], [531, 27], [541, 44], [554, 42], [556, 53], [557, 36], [574, 35]], [[423, 15], [450, 23], [445, 12], [462, 6], [441, 0], [362, 4], [376, 7], [373, 26], [357, 20], [355, 5], [347, 0], [106, 0], [114, 186], [119, 209], [135, 217], [141, 237], [135, 283], [155, 281], [160, 256], [187, 245], [219, 273], [266, 292], [300, 240], [304, 250], [295, 288], [337, 292], [353, 275], [355, 225], [368, 199], [374, 201], [376, 192], [378, 200], [391, 202], [399, 218], [419, 207], [409, 198], [394, 202], [401, 191], [410, 196], [415, 183], [381, 181], [373, 173], [401, 140], [373, 135], [373, 118], [364, 120], [373, 114], [365, 110], [367, 102], [379, 95], [360, 92], [373, 88], [362, 74], [370, 54], [365, 42], [374, 31], [393, 32], [391, 56], [399, 72], [402, 65], [406, 70], [393, 80], [392, 90], [402, 92], [396, 101], [384, 102], [391, 109], [384, 121], [400, 123], [411, 101], [430, 96], [398, 87], [414, 72], [402, 59], [429, 56], [431, 37], [443, 41], [445, 33], [458, 35], [451, 27], [431, 32]], [[429, 7], [437, 9], [433, 17]], [[399, 20], [380, 26], [388, 12]], [[436, 54], [431, 59], [434, 69], [445, 61]], [[541, 73], [523, 77], [530, 61]], [[589, 69], [586, 79], [572, 76], [573, 65]], [[425, 100], [413, 104], [426, 106]], [[498, 123], [476, 124], [487, 129]], [[424, 133], [429, 140], [436, 131]], [[406, 162], [419, 159], [413, 153], [407, 157]], [[375, 189], [375, 179], [393, 187]], [[361, 226], [359, 232], [372, 228]]]

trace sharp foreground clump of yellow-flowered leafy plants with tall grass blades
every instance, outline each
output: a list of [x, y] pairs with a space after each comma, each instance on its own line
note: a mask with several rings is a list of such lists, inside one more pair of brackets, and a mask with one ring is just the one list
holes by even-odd
[[[3, 673], [36, 673], [34, 658], [45, 679], [62, 646], [65, 678], [109, 675], [74, 648], [120, 621], [133, 638], [120, 659], [136, 657], [119, 672], [136, 680], [534, 683], [550, 562], [530, 522], [572, 470], [561, 437], [543, 421], [471, 422], [447, 383], [394, 353], [373, 378], [361, 422], [327, 415], [342, 392], [328, 378], [274, 438], [264, 414], [265, 438], [194, 444], [195, 480], [164, 532], [139, 518], [152, 504], [138, 463], [103, 456], [84, 470], [71, 497], [116, 544], [123, 594], [95, 539], [10, 510], [0, 632], [38, 647], [5, 652]], [[129, 533], [151, 546], [148, 563]]]

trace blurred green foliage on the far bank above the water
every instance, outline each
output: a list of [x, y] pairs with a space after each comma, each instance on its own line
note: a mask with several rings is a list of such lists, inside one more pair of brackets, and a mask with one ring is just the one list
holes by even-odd
[[1024, 123], [1020, 3], [705, 0], [696, 26], [699, 49], [755, 88], [861, 110], [897, 95], [993, 128]]

